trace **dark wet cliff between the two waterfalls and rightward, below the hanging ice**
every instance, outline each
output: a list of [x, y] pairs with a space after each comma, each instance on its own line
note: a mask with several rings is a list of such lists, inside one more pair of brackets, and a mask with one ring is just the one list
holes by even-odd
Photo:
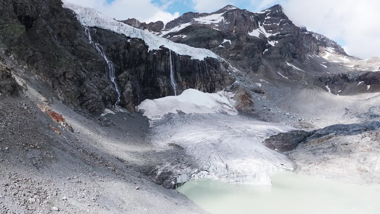
[[[174, 95], [170, 79], [170, 51], [167, 48], [148, 52], [143, 40], [123, 37], [104, 29], [93, 29], [91, 33], [115, 65], [122, 106], [133, 109], [144, 99]], [[221, 63], [214, 58], [193, 60], [174, 52], [172, 55], [177, 93], [188, 88], [212, 93], [235, 81], [227, 72], [226, 62]]]

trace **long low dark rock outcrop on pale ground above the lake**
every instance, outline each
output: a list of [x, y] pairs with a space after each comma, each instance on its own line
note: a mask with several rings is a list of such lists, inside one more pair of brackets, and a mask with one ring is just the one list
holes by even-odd
[[362, 124], [336, 124], [314, 131], [290, 131], [280, 133], [265, 139], [265, 145], [270, 149], [277, 149], [280, 152], [287, 152], [295, 149], [301, 143], [309, 143], [328, 135], [355, 135], [366, 131], [373, 131], [380, 128], [380, 121], [366, 122]]

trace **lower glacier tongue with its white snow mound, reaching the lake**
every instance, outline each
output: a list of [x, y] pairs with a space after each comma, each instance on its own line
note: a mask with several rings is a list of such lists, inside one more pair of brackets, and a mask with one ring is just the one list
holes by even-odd
[[[268, 185], [273, 171], [293, 169], [285, 155], [262, 144], [266, 137], [291, 128], [238, 115], [230, 102], [222, 93], [188, 89], [180, 96], [146, 100], [139, 105], [145, 116], [160, 119], [153, 123], [157, 132], [154, 142], [162, 146], [179, 145], [196, 162], [197, 167], [178, 171], [172, 185], [199, 177]], [[177, 110], [185, 114], [163, 117]], [[184, 168], [181, 164], [169, 163], [159, 166], [157, 171], [173, 172]]]

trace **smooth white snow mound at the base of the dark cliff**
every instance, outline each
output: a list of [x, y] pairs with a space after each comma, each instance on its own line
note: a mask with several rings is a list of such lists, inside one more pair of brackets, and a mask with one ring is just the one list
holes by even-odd
[[168, 113], [217, 113], [220, 111], [237, 115], [237, 110], [231, 104], [232, 93], [203, 93], [196, 89], [187, 89], [179, 96], [168, 96], [160, 99], [141, 102], [139, 110], [144, 110], [144, 116], [149, 119], [161, 119]]

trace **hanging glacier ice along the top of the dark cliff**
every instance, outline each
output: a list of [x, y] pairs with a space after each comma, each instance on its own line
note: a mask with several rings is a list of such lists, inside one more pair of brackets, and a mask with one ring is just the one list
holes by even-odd
[[203, 60], [205, 57], [213, 57], [222, 60], [210, 50], [193, 48], [188, 45], [171, 42], [170, 40], [157, 37], [147, 31], [139, 30], [122, 22], [111, 19], [105, 14], [102, 14], [92, 8], [84, 8], [67, 1], [63, 1], [63, 6], [74, 11], [82, 25], [112, 30], [118, 34], [124, 34], [132, 38], [141, 38], [149, 46], [149, 50], [157, 50], [160, 49], [160, 46], [165, 46], [177, 54], [191, 56], [193, 59]]

